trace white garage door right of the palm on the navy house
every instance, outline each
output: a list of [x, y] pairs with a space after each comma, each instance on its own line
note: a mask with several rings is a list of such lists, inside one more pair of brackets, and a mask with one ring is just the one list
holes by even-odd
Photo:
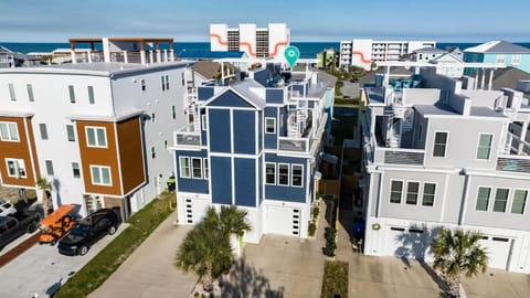
[[301, 213], [299, 209], [285, 206], [267, 206], [266, 223], [267, 233], [280, 235], [300, 234]]

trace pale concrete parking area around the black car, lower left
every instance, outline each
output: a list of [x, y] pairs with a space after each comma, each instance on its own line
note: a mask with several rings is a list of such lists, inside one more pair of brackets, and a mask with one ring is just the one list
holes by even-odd
[[[0, 297], [29, 298], [35, 294], [40, 298], [50, 297], [126, 227], [127, 224], [121, 224], [115, 235], [103, 237], [84, 256], [63, 256], [56, 246], [35, 244], [0, 268]], [[6, 246], [0, 255], [30, 236], [21, 236]]]

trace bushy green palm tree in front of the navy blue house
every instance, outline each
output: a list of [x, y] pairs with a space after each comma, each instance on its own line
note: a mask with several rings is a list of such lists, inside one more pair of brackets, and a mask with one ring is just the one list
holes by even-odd
[[204, 290], [210, 291], [213, 289], [213, 279], [232, 265], [230, 236], [241, 236], [250, 230], [246, 211], [223, 206], [218, 214], [215, 209], [210, 206], [201, 222], [186, 235], [179, 246], [174, 266], [195, 273]]

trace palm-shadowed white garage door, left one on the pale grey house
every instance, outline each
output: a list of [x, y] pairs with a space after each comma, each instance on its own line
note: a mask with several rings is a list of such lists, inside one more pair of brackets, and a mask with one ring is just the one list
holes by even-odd
[[428, 245], [422, 228], [391, 226], [386, 232], [385, 255], [407, 258], [425, 258]]

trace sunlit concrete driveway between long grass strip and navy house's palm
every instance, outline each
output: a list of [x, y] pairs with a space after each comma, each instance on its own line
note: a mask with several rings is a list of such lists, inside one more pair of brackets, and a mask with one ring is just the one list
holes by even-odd
[[193, 274], [182, 274], [173, 262], [179, 244], [191, 226], [173, 225], [176, 213], [163, 221], [132, 255], [94, 292], [106, 297], [189, 297], [197, 284]]

